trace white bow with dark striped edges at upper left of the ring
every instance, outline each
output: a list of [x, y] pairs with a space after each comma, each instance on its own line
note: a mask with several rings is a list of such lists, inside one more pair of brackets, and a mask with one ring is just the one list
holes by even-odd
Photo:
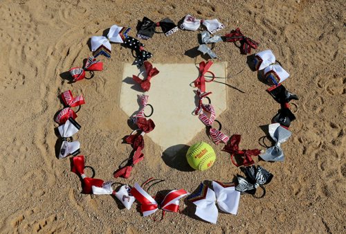
[[109, 33], [107, 37], [103, 36], [93, 36], [91, 37], [91, 51], [93, 55], [97, 57], [98, 55], [104, 55], [106, 57], [111, 57], [111, 43], [123, 43], [127, 38], [127, 33], [131, 28], [120, 27], [117, 25], [111, 26], [109, 28]]

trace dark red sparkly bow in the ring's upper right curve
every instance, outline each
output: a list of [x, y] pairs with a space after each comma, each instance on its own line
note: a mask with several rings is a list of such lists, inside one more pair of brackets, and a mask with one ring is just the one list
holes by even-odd
[[227, 33], [225, 35], [226, 42], [240, 42], [240, 51], [242, 54], [246, 55], [248, 53], [251, 53], [251, 48], [257, 48], [258, 42], [255, 42], [253, 39], [250, 39], [248, 37], [245, 37], [241, 32], [240, 29], [237, 28], [236, 30], [231, 30], [230, 33]]

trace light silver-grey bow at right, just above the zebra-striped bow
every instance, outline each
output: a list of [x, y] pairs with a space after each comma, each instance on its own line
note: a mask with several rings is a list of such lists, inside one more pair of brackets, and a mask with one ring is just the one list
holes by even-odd
[[266, 149], [266, 152], [260, 157], [264, 161], [284, 161], [284, 152], [281, 149], [281, 143], [284, 143], [291, 136], [291, 132], [281, 127], [279, 123], [272, 123], [269, 125], [269, 134], [271, 138], [275, 141], [275, 145]]

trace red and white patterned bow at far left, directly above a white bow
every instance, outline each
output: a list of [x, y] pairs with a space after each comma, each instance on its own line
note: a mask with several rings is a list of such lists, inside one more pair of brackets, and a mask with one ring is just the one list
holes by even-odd
[[77, 114], [75, 114], [75, 111], [73, 111], [71, 107], [78, 107], [80, 105], [85, 104], [85, 100], [82, 95], [73, 98], [73, 95], [70, 90], [64, 91], [61, 94], [61, 97], [62, 103], [64, 104], [65, 108], [62, 109], [55, 118], [55, 122], [60, 124], [65, 123], [66, 120], [68, 120], [69, 118], [77, 118]]

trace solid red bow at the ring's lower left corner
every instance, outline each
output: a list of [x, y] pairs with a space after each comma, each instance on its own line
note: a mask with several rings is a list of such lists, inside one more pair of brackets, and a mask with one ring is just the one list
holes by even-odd
[[86, 177], [84, 174], [84, 156], [75, 156], [71, 161], [71, 172], [75, 172], [78, 176], [80, 176], [83, 180], [82, 182], [82, 192], [85, 194], [91, 194], [93, 192], [92, 186], [102, 187], [104, 181], [102, 179], [93, 179], [90, 177]]

